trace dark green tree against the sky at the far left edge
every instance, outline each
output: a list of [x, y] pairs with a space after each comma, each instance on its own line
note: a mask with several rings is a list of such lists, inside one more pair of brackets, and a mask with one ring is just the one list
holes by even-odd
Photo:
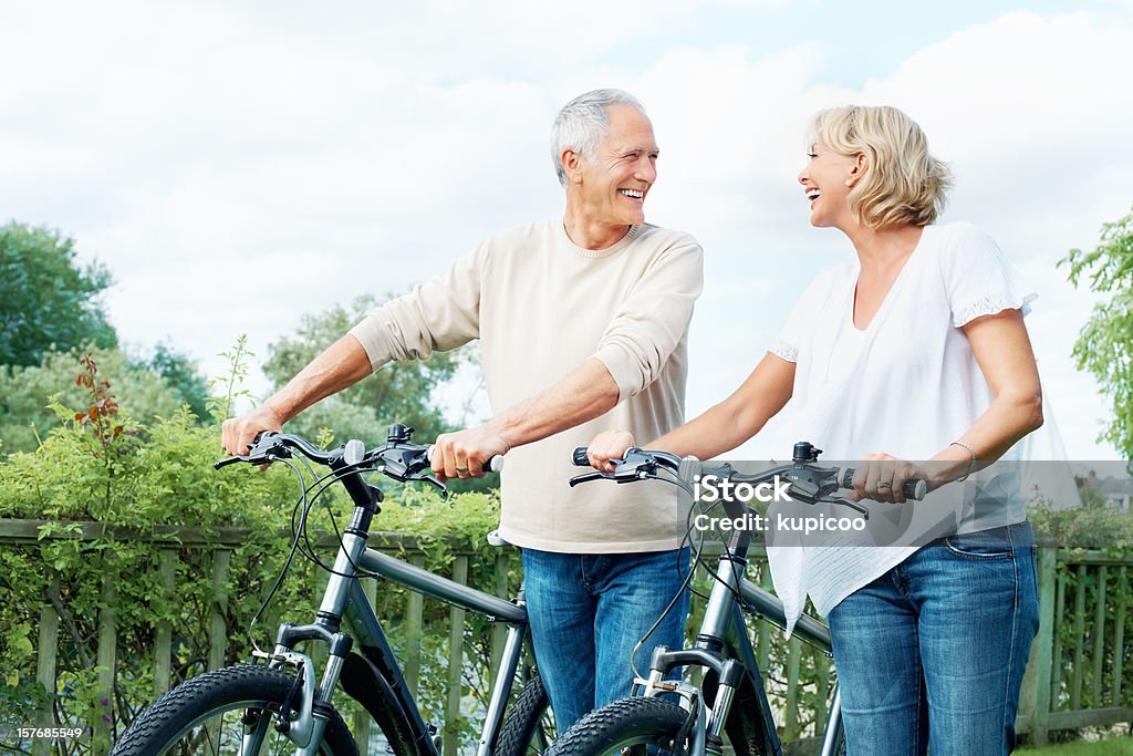
[[99, 304], [110, 283], [99, 263], [79, 266], [74, 240], [58, 231], [0, 227], [0, 365], [39, 365], [46, 351], [116, 346]]

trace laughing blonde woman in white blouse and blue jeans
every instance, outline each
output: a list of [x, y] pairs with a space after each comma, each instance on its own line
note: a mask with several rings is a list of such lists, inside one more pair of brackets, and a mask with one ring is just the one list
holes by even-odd
[[[854, 499], [901, 503], [905, 479], [927, 479], [931, 491], [1017, 458], [1015, 443], [1042, 424], [1023, 324], [1034, 295], [987, 233], [935, 223], [948, 170], [905, 113], [825, 110], [810, 142], [799, 175], [810, 222], [845, 233], [857, 261], [811, 283], [731, 397], [645, 445], [716, 457], [793, 398], [792, 435], [828, 458], [866, 460]], [[604, 433], [590, 461], [611, 469], [630, 445], [627, 433]], [[1033, 535], [1021, 491], [989, 501], [973, 482], [952, 483], [968, 506], [928, 546], [835, 549], [821, 560], [772, 550], [789, 615], [804, 595], [784, 593], [801, 585], [829, 618], [851, 756], [1014, 747], [1038, 629]]]

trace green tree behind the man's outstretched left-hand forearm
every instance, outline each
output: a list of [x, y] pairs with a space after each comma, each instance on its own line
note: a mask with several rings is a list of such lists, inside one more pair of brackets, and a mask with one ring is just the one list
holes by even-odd
[[[267, 348], [264, 373], [279, 389], [373, 309], [375, 298], [364, 296], [349, 307], [337, 305], [317, 315], [305, 315], [299, 329]], [[415, 439], [428, 440], [452, 431], [434, 401], [436, 389], [451, 380], [470, 359], [467, 350], [434, 352], [428, 359], [391, 363], [349, 389], [318, 402], [288, 424], [295, 433], [315, 438], [330, 428], [339, 441], [357, 438], [367, 443], [385, 440], [390, 423], [415, 428]]]

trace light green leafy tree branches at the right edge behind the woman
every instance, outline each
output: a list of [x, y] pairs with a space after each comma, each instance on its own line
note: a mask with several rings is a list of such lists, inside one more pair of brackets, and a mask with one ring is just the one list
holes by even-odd
[[1092, 252], [1071, 249], [1058, 262], [1075, 287], [1088, 277], [1090, 289], [1110, 295], [1093, 306], [1074, 342], [1079, 369], [1098, 379], [1113, 401], [1113, 418], [1101, 439], [1126, 459], [1133, 457], [1133, 212], [1101, 227]]

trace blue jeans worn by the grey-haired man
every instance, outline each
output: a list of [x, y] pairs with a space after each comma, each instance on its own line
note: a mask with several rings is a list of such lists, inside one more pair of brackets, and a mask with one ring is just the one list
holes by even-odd
[[[678, 594], [688, 570], [688, 549], [640, 554], [523, 549], [535, 657], [560, 732], [630, 694], [630, 653]], [[648, 677], [655, 646], [683, 646], [688, 613], [685, 589], [633, 656], [642, 676]]]

